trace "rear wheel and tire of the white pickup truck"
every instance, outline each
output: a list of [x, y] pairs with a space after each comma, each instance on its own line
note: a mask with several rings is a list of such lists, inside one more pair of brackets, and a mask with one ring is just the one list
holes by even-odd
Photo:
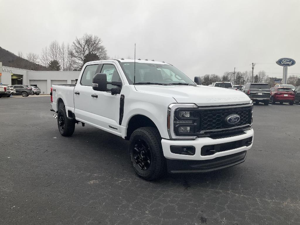
[[57, 125], [59, 133], [64, 137], [71, 136], [74, 133], [75, 121], [67, 117], [65, 107], [58, 110]]

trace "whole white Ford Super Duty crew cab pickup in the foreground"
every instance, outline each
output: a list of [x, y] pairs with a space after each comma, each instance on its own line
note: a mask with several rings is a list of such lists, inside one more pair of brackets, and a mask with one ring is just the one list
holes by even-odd
[[62, 136], [80, 122], [129, 140], [132, 166], [146, 180], [244, 162], [253, 143], [252, 101], [195, 81], [164, 62], [92, 61], [76, 85], [52, 85], [51, 111]]

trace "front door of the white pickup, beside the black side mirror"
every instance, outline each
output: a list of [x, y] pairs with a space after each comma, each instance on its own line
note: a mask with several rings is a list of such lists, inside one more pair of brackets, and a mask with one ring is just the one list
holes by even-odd
[[[101, 73], [107, 74], [107, 82], [121, 81], [119, 70], [114, 63], [103, 64]], [[117, 88], [117, 86], [108, 84], [107, 88]], [[91, 95], [98, 95], [98, 98], [94, 97], [91, 99], [92, 122], [105, 131], [120, 135], [119, 114], [121, 94], [112, 95], [110, 91], [92, 90]]]

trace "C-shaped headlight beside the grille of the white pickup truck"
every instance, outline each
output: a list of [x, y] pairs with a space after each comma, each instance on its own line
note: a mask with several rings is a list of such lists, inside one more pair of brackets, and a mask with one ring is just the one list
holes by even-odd
[[191, 136], [199, 129], [198, 107], [195, 104], [170, 104], [168, 108], [167, 128], [172, 139], [195, 139]]

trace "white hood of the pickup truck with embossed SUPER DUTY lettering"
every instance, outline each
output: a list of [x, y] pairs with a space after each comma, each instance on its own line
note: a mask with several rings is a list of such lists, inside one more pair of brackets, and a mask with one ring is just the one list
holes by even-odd
[[241, 91], [204, 85], [135, 85], [137, 91], [173, 97], [178, 103], [194, 103], [197, 106], [230, 105], [250, 103]]

